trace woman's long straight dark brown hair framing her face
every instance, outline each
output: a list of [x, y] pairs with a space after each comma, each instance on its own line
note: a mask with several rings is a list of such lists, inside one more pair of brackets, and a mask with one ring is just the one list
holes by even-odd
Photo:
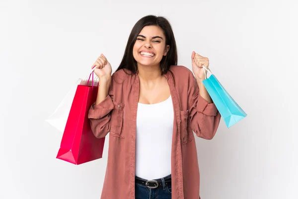
[[[166, 74], [171, 65], [177, 65], [177, 47], [170, 22], [162, 16], [147, 15], [142, 17], [133, 27], [125, 48], [124, 56], [116, 71], [128, 69], [133, 74], [138, 72], [137, 61], [133, 56], [133, 48], [141, 30], [148, 25], [156, 25], [163, 30], [165, 43], [169, 45], [169, 51], [160, 61], [161, 75]], [[126, 71], [126, 70], [124, 70]]]

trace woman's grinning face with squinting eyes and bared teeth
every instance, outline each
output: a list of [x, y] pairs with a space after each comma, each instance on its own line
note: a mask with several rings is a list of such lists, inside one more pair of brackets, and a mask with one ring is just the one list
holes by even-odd
[[165, 44], [165, 36], [160, 27], [155, 25], [145, 26], [137, 37], [133, 48], [133, 55], [138, 66], [159, 66], [162, 56], [169, 50]]

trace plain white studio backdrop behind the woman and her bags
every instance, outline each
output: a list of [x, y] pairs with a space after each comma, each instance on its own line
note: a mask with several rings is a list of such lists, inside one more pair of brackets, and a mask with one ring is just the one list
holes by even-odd
[[[213, 140], [196, 138], [202, 199], [297, 199], [298, 8], [288, 0], [1, 0], [0, 199], [98, 199], [107, 164], [56, 159], [45, 122], [103, 53], [118, 67], [133, 25], [171, 22], [178, 64], [191, 53], [248, 113]], [[295, 19], [296, 18], [296, 19]], [[297, 55], [296, 57], [297, 58]], [[125, 185], [124, 185], [125, 186]]]

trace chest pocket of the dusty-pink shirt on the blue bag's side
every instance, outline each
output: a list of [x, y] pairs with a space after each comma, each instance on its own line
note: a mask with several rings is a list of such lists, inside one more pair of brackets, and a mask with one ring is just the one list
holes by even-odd
[[181, 110], [180, 111], [180, 119], [181, 119], [181, 133], [180, 133], [180, 139], [182, 144], [186, 144], [193, 139], [193, 132], [190, 129], [189, 126], [189, 119], [188, 119], [188, 110]]

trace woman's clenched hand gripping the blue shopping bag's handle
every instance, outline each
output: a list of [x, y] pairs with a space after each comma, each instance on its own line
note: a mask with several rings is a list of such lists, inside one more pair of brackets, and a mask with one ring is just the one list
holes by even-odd
[[[209, 59], [207, 57], [202, 57], [199, 54], [196, 54], [195, 51], [192, 52], [191, 55], [191, 60], [192, 60], [192, 70], [193, 73], [196, 77], [197, 80], [203, 81], [205, 80], [205, 73], [204, 73], [204, 68], [208, 69], [209, 67]], [[207, 74], [207, 71], [206, 71]]]

